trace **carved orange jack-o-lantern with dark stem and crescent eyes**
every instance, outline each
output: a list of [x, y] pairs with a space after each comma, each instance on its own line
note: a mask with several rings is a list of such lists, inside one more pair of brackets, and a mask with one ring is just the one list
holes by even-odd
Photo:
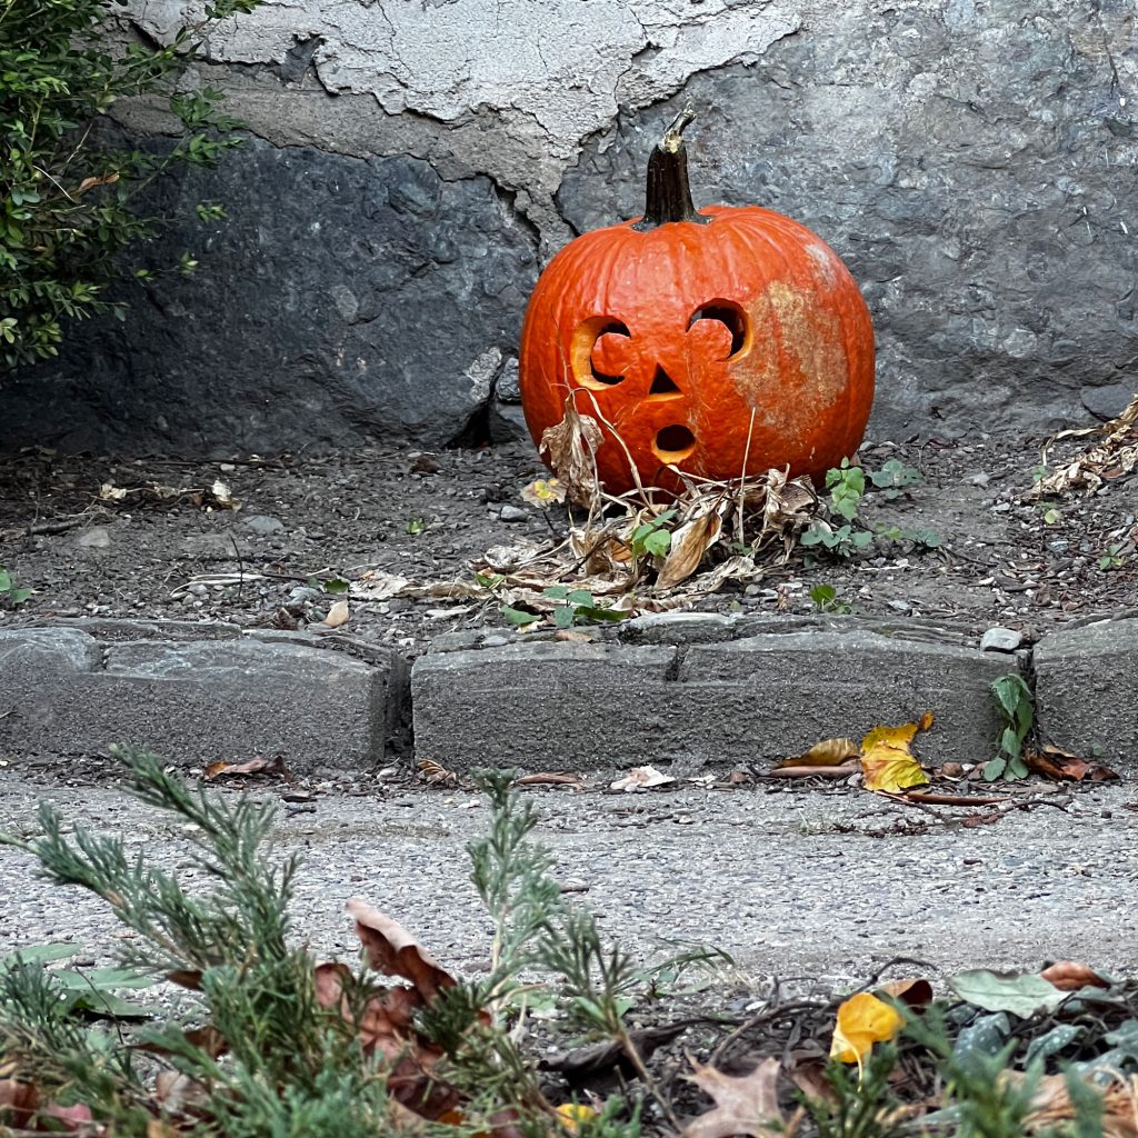
[[682, 139], [693, 117], [652, 151], [644, 216], [566, 246], [526, 312], [534, 442], [572, 395], [601, 424], [597, 473], [613, 494], [635, 485], [629, 460], [642, 485], [669, 490], [682, 483], [668, 467], [820, 478], [857, 450], [873, 403], [873, 325], [853, 278], [780, 214], [698, 212]]

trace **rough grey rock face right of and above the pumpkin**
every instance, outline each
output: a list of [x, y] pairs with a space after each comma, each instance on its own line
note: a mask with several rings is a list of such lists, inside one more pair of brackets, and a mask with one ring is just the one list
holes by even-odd
[[871, 430], [1046, 430], [1086, 418], [1085, 386], [1133, 391], [1138, 121], [1103, 24], [1123, 0], [849, 7], [622, 119], [562, 183], [567, 220], [640, 213], [643, 155], [690, 99], [696, 200], [801, 221], [861, 284]]

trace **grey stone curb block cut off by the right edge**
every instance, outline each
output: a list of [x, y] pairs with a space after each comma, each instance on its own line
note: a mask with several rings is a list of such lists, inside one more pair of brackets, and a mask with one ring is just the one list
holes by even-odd
[[1138, 619], [1052, 633], [1033, 660], [1044, 739], [1138, 774]]

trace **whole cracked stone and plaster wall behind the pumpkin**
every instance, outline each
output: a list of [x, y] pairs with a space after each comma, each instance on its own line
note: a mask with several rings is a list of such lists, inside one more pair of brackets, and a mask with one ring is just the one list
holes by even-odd
[[[127, 8], [156, 40], [191, 11]], [[1045, 430], [1135, 387], [1132, 0], [288, 0], [185, 83], [253, 139], [164, 204], [231, 220], [171, 236], [196, 281], [9, 385], [0, 444], [461, 435], [512, 387], [541, 263], [638, 212], [688, 99], [698, 200], [797, 217], [863, 284], [872, 430]]]

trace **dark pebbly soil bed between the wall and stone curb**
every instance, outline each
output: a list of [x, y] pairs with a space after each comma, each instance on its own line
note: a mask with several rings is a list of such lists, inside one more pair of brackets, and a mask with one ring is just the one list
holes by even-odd
[[[932, 617], [978, 634], [1006, 625], [1029, 641], [1129, 611], [1138, 603], [1138, 476], [1041, 504], [1025, 495], [1042, 442], [871, 440], [860, 452], [867, 469], [899, 459], [923, 480], [893, 501], [868, 493], [861, 518], [872, 528], [932, 530], [938, 549], [879, 537], [849, 561], [799, 550], [761, 579], [728, 582], [694, 604], [809, 612], [811, 588], [828, 585], [855, 612]], [[1061, 444], [1055, 455], [1077, 445]], [[209, 463], [24, 452], [0, 459], [0, 564], [34, 592], [0, 604], [0, 627], [98, 615], [296, 628], [323, 620], [336, 600], [314, 587], [319, 578], [376, 571], [469, 582], [471, 563], [492, 546], [563, 535], [563, 508], [545, 514], [519, 496], [542, 473], [521, 444]], [[203, 496], [218, 480], [239, 509]], [[107, 498], [104, 486], [126, 493]], [[184, 493], [158, 500], [155, 486]], [[212, 575], [230, 579], [203, 580]], [[487, 625], [505, 627], [494, 601], [353, 599], [347, 630], [413, 657], [439, 633]]]

